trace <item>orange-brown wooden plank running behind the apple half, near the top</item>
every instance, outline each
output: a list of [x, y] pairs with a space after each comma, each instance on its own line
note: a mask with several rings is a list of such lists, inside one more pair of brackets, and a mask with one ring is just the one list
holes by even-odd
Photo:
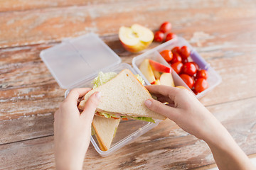
[[[255, 23], [256, 4], [250, 1], [237, 2], [240, 6], [235, 3], [207, 1], [199, 10], [198, 6], [202, 6], [199, 0], [141, 0], [136, 4], [133, 1], [123, 1], [110, 6], [96, 4], [0, 13], [0, 47], [55, 42], [89, 32], [116, 34], [120, 26], [131, 26], [132, 23], [140, 23], [155, 30], [166, 20], [173, 23], [175, 33], [185, 38], [191, 38], [191, 30], [195, 29], [218, 29], [221, 23], [226, 22], [237, 26], [238, 19], [238, 28], [246, 30], [243, 19], [250, 19], [251, 23]], [[214, 33], [216, 32], [210, 34]]]

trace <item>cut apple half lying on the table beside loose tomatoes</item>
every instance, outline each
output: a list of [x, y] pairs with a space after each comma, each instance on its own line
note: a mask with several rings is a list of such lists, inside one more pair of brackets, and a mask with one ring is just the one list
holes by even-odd
[[142, 51], [154, 40], [154, 33], [137, 23], [130, 28], [122, 26], [118, 35], [123, 47], [129, 52]]

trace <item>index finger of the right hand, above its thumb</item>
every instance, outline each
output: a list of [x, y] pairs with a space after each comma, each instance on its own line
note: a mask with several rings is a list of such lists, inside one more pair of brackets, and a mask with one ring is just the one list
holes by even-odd
[[176, 94], [178, 93], [178, 89], [172, 86], [164, 86], [164, 85], [151, 85], [145, 86], [146, 89], [149, 90], [152, 94], [161, 94], [163, 96], [169, 96], [171, 100], [174, 101]]

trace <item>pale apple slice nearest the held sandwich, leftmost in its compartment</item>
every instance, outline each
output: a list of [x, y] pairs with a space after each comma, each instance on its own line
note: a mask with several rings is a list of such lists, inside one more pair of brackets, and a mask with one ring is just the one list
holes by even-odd
[[143, 60], [142, 64], [140, 64], [139, 66], [139, 70], [142, 72], [144, 77], [146, 77], [149, 83], [153, 83], [154, 81], [156, 81], [153, 70], [151, 69], [151, 66], [149, 64], [149, 59]]

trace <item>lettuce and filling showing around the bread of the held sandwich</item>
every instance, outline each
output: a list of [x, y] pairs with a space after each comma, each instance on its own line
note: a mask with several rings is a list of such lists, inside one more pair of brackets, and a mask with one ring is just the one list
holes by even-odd
[[[93, 84], [92, 89], [95, 89], [98, 86], [101, 86], [102, 84], [107, 83], [107, 81], [110, 81], [111, 79], [113, 79], [116, 76], [117, 76], [117, 73], [115, 73], [115, 72], [107, 72], [107, 73], [99, 72], [98, 76], [92, 81], [92, 84]], [[144, 80], [142, 79], [142, 77], [139, 76], [139, 74], [137, 74], [135, 76], [142, 83], [142, 85], [145, 84]], [[96, 115], [105, 116], [105, 118], [122, 118], [122, 119], [131, 118], [131, 119], [134, 119], [134, 120], [144, 120], [144, 121], [147, 121], [147, 122], [155, 123], [153, 118], [134, 117], [134, 116], [125, 115], [125, 114], [106, 113], [104, 111], [98, 111], [96, 113]]]

